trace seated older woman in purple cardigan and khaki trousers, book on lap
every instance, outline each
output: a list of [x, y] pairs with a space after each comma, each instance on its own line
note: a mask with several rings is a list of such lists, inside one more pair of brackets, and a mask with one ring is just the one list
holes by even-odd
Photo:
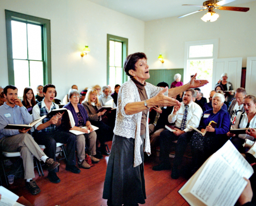
[[[84, 132], [84, 134], [76, 135], [76, 151], [78, 157], [78, 165], [81, 168], [89, 169], [90, 165], [85, 161], [85, 141], [88, 145], [88, 155], [90, 156], [92, 162], [99, 162], [99, 159], [94, 157], [96, 155], [96, 132], [93, 131], [92, 125], [89, 121], [84, 107], [79, 104], [80, 94], [77, 90], [71, 89], [68, 94], [70, 102], [64, 106], [64, 108], [71, 111], [75, 126], [71, 130], [77, 130]], [[82, 128], [86, 126], [88, 129]], [[90, 130], [90, 133], [88, 132]]]

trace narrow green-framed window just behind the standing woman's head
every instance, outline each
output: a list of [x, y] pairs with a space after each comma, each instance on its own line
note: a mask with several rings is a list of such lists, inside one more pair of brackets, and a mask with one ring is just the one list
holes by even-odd
[[107, 82], [113, 91], [116, 84], [127, 81], [123, 63], [128, 53], [128, 39], [108, 34]]

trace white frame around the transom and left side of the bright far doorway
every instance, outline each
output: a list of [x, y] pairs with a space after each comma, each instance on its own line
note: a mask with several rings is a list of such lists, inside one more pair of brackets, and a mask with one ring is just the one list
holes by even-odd
[[[190, 46], [199, 46], [199, 45], [206, 45], [206, 44], [213, 44], [213, 52], [212, 52], [212, 56], [211, 57], [194, 57], [194, 58], [189, 58], [189, 47]], [[183, 82], [188, 82], [190, 80], [189, 60], [215, 59], [215, 58], [218, 58], [218, 38], [216, 38], [216, 39], [200, 40], [200, 41], [186, 41], [185, 42]]]

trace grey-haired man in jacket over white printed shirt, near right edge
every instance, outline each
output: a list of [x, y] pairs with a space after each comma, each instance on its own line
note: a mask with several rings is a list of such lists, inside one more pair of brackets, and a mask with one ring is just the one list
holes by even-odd
[[236, 122], [236, 116], [239, 113], [244, 112], [243, 107], [243, 100], [244, 97], [246, 97], [246, 90], [242, 87], [236, 89], [235, 98], [230, 103], [230, 106], [228, 107], [228, 113], [230, 113], [231, 117], [231, 124], [235, 125]]

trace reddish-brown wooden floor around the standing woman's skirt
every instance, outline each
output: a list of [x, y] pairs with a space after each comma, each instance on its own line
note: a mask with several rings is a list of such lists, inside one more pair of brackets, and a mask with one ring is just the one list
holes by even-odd
[[[108, 145], [111, 146], [111, 142]], [[152, 167], [158, 161], [155, 155], [145, 158], [147, 199], [143, 206], [189, 206], [178, 194], [187, 179], [180, 177], [173, 180], [170, 170], [153, 171]], [[107, 156], [90, 169], [81, 169], [80, 174], [66, 171], [63, 160], [60, 163], [60, 171], [57, 174], [61, 182], [58, 184], [48, 180], [47, 170], [44, 170], [44, 177], [39, 177], [35, 170], [35, 180], [41, 189], [37, 195], [30, 194], [21, 179], [15, 179], [14, 184], [7, 188], [19, 196], [24, 196], [35, 206], [107, 206], [107, 200], [102, 199]]]

